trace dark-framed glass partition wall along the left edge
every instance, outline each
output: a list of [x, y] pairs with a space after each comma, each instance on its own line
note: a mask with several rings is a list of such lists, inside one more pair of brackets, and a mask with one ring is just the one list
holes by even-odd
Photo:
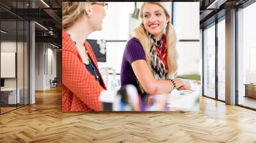
[[0, 114], [29, 104], [29, 22], [15, 15], [27, 3], [0, 2]]

